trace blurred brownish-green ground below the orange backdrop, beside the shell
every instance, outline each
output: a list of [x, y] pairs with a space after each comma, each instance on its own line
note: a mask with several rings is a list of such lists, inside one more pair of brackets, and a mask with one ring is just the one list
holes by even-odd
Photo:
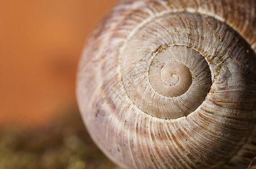
[[2, 128], [0, 169], [118, 168], [93, 144], [77, 109], [36, 129]]

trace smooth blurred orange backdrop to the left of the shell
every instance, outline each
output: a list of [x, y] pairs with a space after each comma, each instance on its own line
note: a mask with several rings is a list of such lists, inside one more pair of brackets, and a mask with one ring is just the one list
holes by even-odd
[[0, 127], [44, 126], [76, 107], [76, 66], [117, 0], [2, 0]]

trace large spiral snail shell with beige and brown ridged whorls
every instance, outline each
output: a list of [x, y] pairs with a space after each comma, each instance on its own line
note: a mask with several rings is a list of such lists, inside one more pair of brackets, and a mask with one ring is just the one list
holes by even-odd
[[118, 3], [78, 68], [97, 146], [123, 168], [246, 168], [256, 156], [255, 9], [254, 0]]

